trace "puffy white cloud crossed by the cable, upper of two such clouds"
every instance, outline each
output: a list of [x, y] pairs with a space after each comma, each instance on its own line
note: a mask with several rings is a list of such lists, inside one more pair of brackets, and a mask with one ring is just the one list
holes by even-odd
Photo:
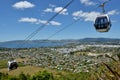
[[[61, 10], [63, 9], [63, 7], [55, 7], [55, 8], [46, 8], [44, 10], [44, 12], [49, 13], [49, 12], [53, 12], [53, 13], [59, 13]], [[60, 14], [62, 15], [68, 15], [67, 9], [63, 9]]]

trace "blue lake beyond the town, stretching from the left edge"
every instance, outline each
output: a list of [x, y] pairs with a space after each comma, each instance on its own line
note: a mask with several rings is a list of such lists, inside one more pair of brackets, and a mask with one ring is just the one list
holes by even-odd
[[53, 40], [16, 40], [16, 41], [7, 41], [0, 42], [0, 47], [2, 48], [37, 48], [37, 47], [54, 47], [54, 46], [63, 46], [65, 43], [61, 41]]

